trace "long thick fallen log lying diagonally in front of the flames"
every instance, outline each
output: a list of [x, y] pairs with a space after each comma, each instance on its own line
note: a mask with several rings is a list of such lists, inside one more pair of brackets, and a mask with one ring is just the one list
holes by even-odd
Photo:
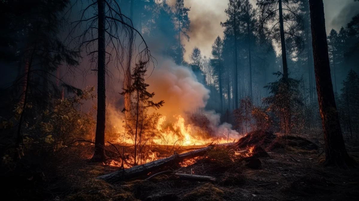
[[195, 158], [197, 156], [204, 155], [208, 150], [212, 149], [213, 146], [207, 146], [202, 149], [197, 149], [194, 151], [189, 151], [183, 154], [172, 155], [168, 158], [154, 160], [142, 165], [137, 165], [129, 169], [120, 169], [112, 173], [108, 173], [102, 176], [97, 177], [97, 179], [102, 179], [109, 183], [116, 183], [127, 179], [132, 179], [139, 176], [144, 176], [150, 172], [155, 172], [159, 169], [164, 169], [166, 167], [171, 167], [174, 164], [180, 163], [183, 160]]

